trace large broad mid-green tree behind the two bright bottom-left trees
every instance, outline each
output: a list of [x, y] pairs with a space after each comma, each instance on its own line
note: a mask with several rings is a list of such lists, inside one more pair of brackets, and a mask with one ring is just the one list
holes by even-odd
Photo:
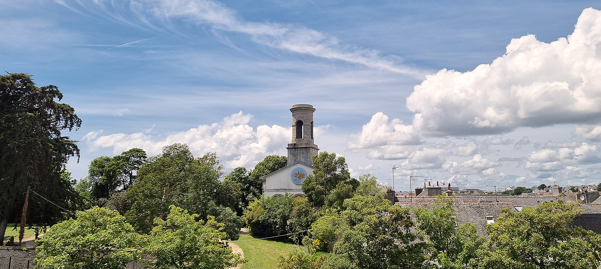
[[148, 158], [138, 170], [135, 183], [126, 190], [131, 203], [125, 216], [136, 231], [148, 233], [154, 218], [165, 220], [169, 206], [185, 208], [206, 220], [215, 216], [225, 224], [228, 237], [237, 239], [243, 220], [230, 208], [216, 204], [227, 201], [219, 190], [222, 166], [215, 153], [194, 158], [187, 145], [173, 144], [162, 154]]

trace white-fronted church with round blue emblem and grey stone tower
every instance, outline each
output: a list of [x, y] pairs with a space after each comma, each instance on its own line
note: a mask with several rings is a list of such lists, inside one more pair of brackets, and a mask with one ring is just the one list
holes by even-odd
[[301, 184], [308, 175], [313, 175], [313, 160], [317, 155], [317, 145], [313, 141], [313, 112], [311, 104], [294, 104], [292, 112], [292, 141], [288, 144], [288, 164], [278, 171], [261, 178], [263, 195], [305, 196]]

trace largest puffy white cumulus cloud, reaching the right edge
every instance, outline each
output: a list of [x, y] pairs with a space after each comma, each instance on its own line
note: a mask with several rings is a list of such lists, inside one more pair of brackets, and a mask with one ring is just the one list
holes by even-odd
[[511, 40], [505, 55], [465, 73], [443, 69], [407, 97], [428, 136], [499, 134], [601, 119], [601, 11], [587, 8], [567, 38]]

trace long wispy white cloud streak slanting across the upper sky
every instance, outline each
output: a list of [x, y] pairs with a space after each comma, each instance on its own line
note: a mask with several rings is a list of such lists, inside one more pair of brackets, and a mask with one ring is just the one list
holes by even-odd
[[[224, 4], [211, 0], [142, 0], [130, 1], [129, 5], [114, 1], [99, 0], [80, 5], [99, 14], [136, 26], [150, 26], [153, 29], [167, 28], [182, 34], [185, 29], [176, 28], [174, 23], [183, 20], [195, 25], [207, 25], [215, 31], [228, 31], [246, 34], [251, 40], [263, 46], [284, 49], [290, 52], [305, 53], [326, 59], [352, 62], [370, 68], [408, 74], [423, 79], [426, 72], [419, 68], [401, 64], [394, 55], [382, 55], [373, 49], [341, 44], [337, 38], [303, 26], [282, 25], [273, 22], [249, 22], [237, 16], [236, 12]], [[71, 5], [60, 1], [69, 8]], [[123, 7], [129, 6], [130, 13], [123, 14]], [[121, 12], [121, 13], [119, 13]], [[136, 20], [132, 20], [135, 17]], [[185, 27], [184, 27], [185, 28]]]

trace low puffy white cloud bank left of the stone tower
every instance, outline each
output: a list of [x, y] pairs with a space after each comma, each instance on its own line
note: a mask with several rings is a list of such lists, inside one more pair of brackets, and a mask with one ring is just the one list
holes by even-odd
[[179, 131], [157, 140], [145, 133], [114, 133], [99, 136], [100, 131], [91, 131], [83, 141], [91, 151], [112, 148], [114, 154], [142, 148], [148, 154], [158, 154], [166, 145], [188, 144], [192, 153], [201, 156], [216, 152], [225, 161], [227, 168], [254, 165], [269, 154], [277, 154], [290, 140], [290, 128], [279, 125], [260, 125], [256, 129], [248, 125], [252, 115], [242, 111], [227, 116], [221, 122], [199, 125], [187, 131]]

